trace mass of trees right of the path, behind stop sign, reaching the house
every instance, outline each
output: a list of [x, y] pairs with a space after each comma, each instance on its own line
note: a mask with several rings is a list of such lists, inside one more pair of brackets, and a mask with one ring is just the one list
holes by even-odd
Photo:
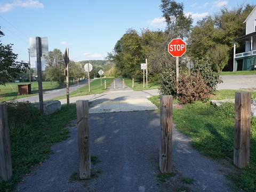
[[[165, 66], [174, 67], [174, 58], [167, 52], [167, 44], [173, 38], [181, 38], [187, 43], [187, 52], [180, 61], [185, 68], [188, 61], [207, 59], [212, 69], [221, 72], [233, 66], [234, 38], [245, 35], [244, 21], [254, 5], [242, 4], [229, 10], [223, 7], [213, 15], [207, 15], [193, 26], [191, 15], [184, 13], [183, 3], [162, 0], [160, 9], [166, 22], [165, 30], [134, 29], [117, 41], [107, 59], [115, 62], [118, 75], [141, 81], [140, 63], [148, 60], [149, 79], [159, 79]], [[243, 43], [237, 46], [242, 52]]]

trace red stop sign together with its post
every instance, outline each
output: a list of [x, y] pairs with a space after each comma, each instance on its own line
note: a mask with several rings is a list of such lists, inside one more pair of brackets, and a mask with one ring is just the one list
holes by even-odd
[[[179, 57], [181, 57], [186, 52], [186, 43], [182, 39], [172, 39], [168, 44], [168, 52], [176, 58], [176, 81], [178, 83], [179, 79]], [[178, 89], [177, 89], [178, 93]]]

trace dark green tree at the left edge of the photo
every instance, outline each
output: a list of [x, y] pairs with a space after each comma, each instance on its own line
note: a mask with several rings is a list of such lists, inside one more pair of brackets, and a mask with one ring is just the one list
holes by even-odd
[[[0, 37], [4, 33], [0, 30]], [[12, 44], [4, 45], [0, 41], [0, 84], [5, 85], [6, 81], [16, 78], [22, 71], [29, 67], [28, 63], [16, 61], [18, 54], [12, 52]]]

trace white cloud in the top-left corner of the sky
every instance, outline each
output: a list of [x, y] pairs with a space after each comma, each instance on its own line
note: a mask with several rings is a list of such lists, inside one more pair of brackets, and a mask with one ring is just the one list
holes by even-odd
[[43, 3], [40, 3], [39, 1], [35, 0], [15, 0], [13, 3], [5, 3], [1, 4], [0, 3], [0, 13], [8, 12], [16, 7], [26, 7], [29, 9], [34, 9], [34, 8], [44, 8]]

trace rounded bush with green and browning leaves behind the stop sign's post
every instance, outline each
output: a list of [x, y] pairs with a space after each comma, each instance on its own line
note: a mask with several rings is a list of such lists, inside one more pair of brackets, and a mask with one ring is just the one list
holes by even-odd
[[159, 75], [159, 92], [173, 95], [183, 103], [205, 101], [221, 82], [219, 74], [212, 70], [211, 63], [199, 60], [191, 69], [190, 75], [187, 75], [186, 71], [180, 71], [178, 94], [175, 71], [171, 67], [162, 68], [162, 73]]

